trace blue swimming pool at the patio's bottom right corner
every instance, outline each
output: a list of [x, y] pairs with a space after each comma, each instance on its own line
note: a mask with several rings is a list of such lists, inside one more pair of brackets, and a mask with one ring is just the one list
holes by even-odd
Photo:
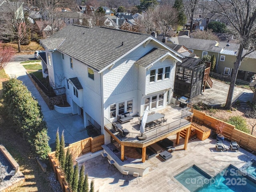
[[256, 184], [246, 177], [246, 173], [232, 165], [214, 178], [207, 177], [207, 174], [196, 166], [188, 168], [174, 178], [191, 192], [251, 192], [256, 190]]

